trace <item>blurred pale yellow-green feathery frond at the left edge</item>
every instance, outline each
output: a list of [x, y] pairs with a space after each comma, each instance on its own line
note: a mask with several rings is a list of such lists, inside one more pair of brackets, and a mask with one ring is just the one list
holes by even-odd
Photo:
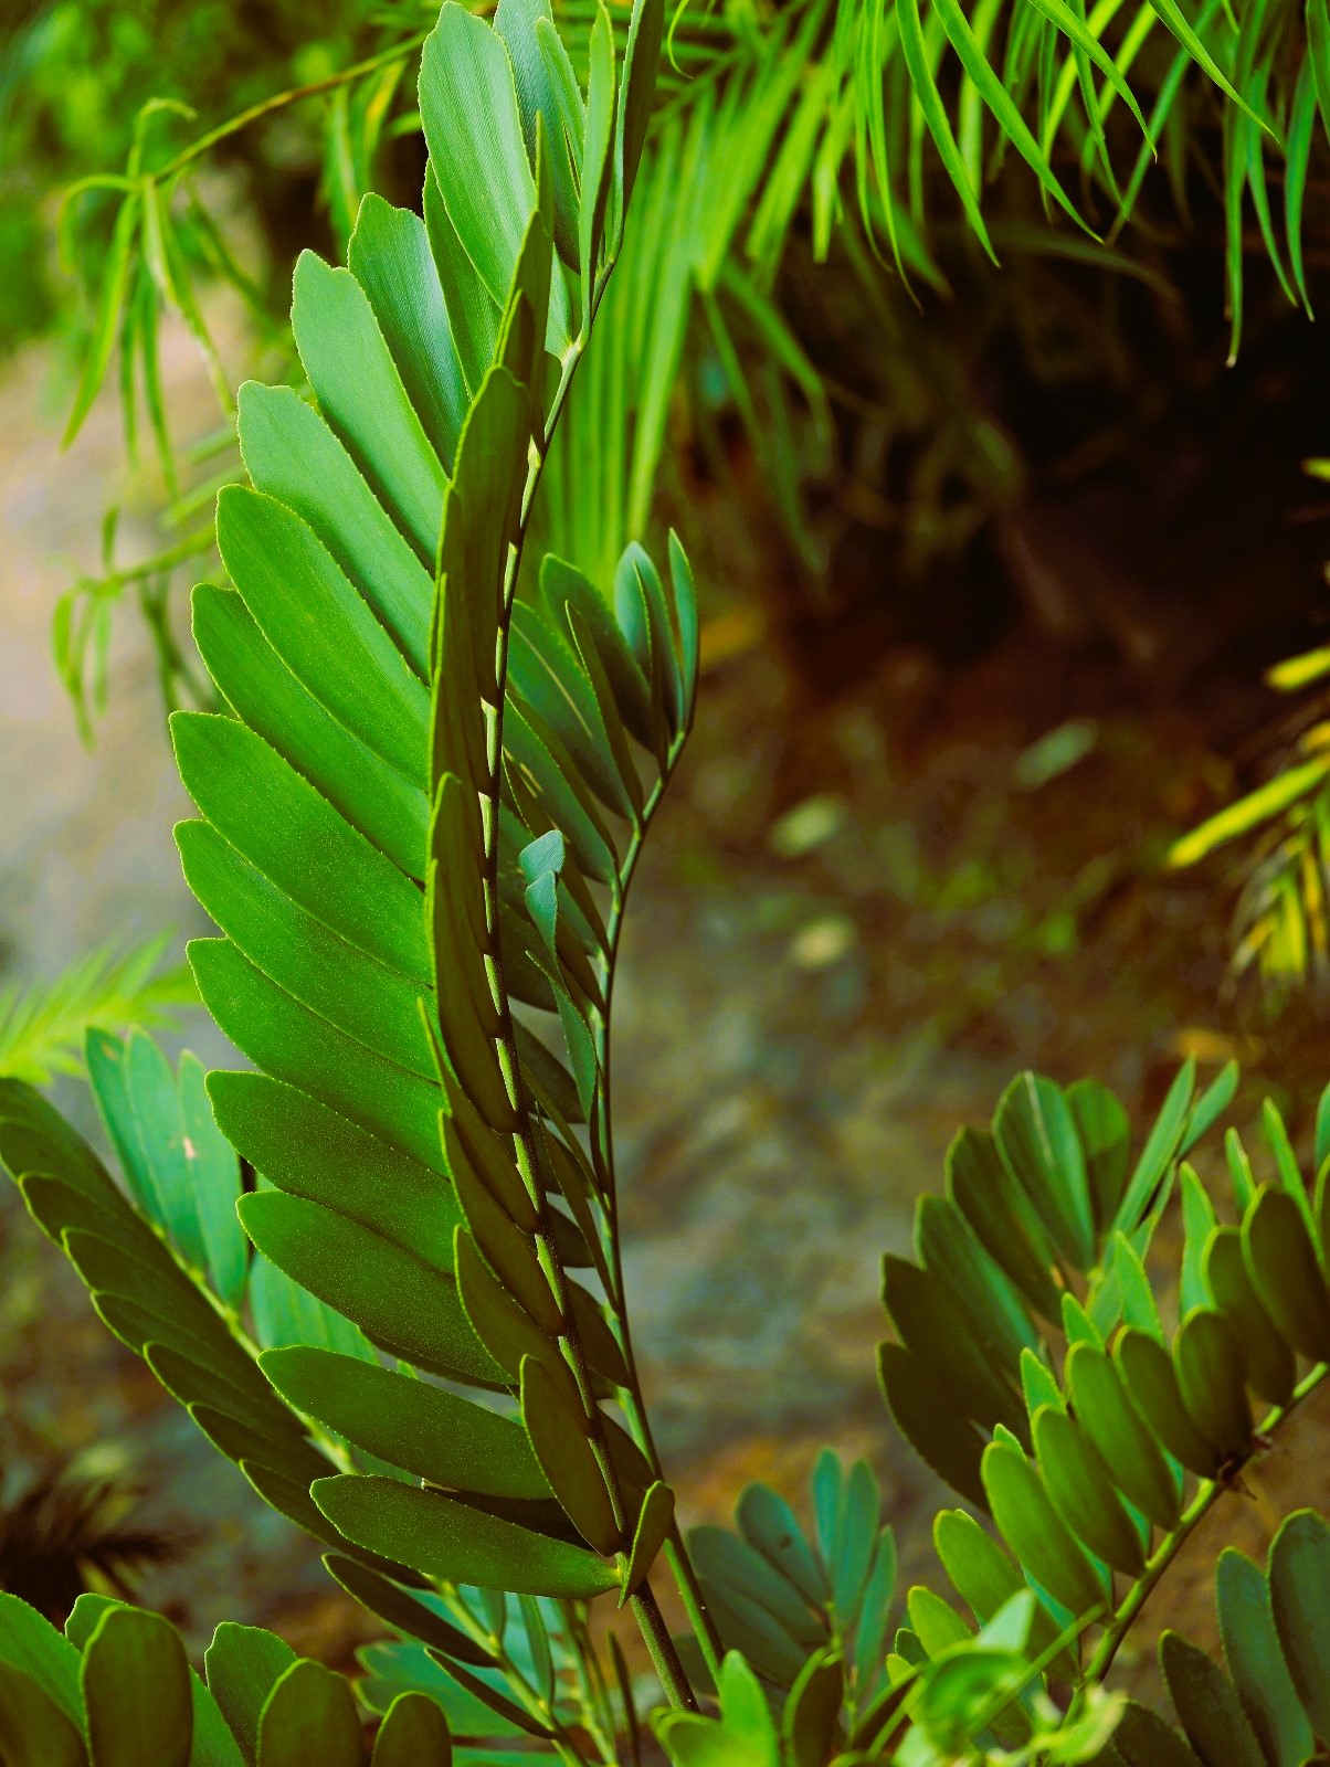
[[53, 981], [0, 988], [0, 1076], [44, 1087], [81, 1071], [90, 1025], [159, 1027], [198, 995], [189, 970], [161, 968], [172, 935], [140, 945], [101, 945]]

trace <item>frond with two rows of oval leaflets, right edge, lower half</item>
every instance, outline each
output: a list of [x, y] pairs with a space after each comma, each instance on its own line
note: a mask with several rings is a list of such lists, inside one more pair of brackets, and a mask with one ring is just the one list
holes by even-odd
[[[1215, 1202], [1183, 1156], [1234, 1080], [1226, 1069], [1197, 1097], [1183, 1069], [1132, 1161], [1107, 1088], [1022, 1076], [992, 1131], [953, 1143], [946, 1196], [918, 1210], [918, 1262], [884, 1265], [898, 1334], [881, 1354], [888, 1403], [1003, 1543], [944, 1513], [943, 1566], [980, 1624], [1028, 1581], [1036, 1649], [1086, 1629], [1084, 1659], [1063, 1650], [1059, 1679], [1105, 1673], [1144, 1592], [1326, 1373], [1330, 1113], [1312, 1187], [1266, 1103], [1273, 1177], [1252, 1173], [1229, 1131]], [[1174, 1191], [1181, 1323], [1169, 1336], [1146, 1262]]]

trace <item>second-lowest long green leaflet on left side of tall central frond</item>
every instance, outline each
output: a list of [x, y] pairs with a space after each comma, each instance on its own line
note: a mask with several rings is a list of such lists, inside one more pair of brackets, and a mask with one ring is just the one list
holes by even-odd
[[260, 1357], [281, 1396], [378, 1460], [430, 1484], [548, 1497], [522, 1426], [424, 1380], [318, 1348]]

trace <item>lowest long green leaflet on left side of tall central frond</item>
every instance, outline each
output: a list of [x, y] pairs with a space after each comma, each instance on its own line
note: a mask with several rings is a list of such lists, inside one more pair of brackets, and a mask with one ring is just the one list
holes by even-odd
[[355, 1475], [318, 1479], [311, 1490], [347, 1539], [371, 1551], [387, 1546], [426, 1576], [573, 1599], [617, 1585], [614, 1566], [584, 1546], [534, 1534], [439, 1491]]

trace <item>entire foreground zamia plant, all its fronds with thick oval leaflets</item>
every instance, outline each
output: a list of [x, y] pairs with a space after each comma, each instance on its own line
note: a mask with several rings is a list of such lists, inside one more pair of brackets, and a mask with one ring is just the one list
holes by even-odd
[[[218, 502], [233, 587], [195, 597], [225, 709], [173, 723], [200, 811], [180, 855], [221, 933], [191, 961], [251, 1067], [203, 1076], [94, 1032], [122, 1182], [18, 1081], [0, 1157], [108, 1327], [396, 1634], [363, 1661], [375, 1760], [646, 1760], [605, 1624], [628, 1608], [679, 1767], [1112, 1762], [1121, 1702], [1098, 1684], [1144, 1594], [1325, 1375], [1330, 1106], [1314, 1191], [1273, 1110], [1277, 1182], [1231, 1138], [1234, 1221], [1181, 1163], [1233, 1069], [1201, 1097], [1183, 1069], [1135, 1161], [1095, 1081], [1022, 1076], [960, 1136], [918, 1262], [888, 1258], [883, 1380], [971, 1505], [937, 1525], [969, 1617], [916, 1589], [888, 1642], [881, 1497], [829, 1458], [815, 1539], [762, 1488], [738, 1534], [681, 1536], [626, 1313], [610, 1018], [693, 717], [693, 587], [676, 542], [665, 576], [630, 546], [612, 583], [557, 557], [520, 578], [661, 27], [640, 0], [619, 64], [600, 14], [584, 88], [548, 18], [444, 7], [423, 216], [366, 198], [347, 269], [301, 260], [311, 396], [242, 389], [249, 484]], [[1174, 1191], [1169, 1341], [1146, 1258]], [[1273, 1407], [1259, 1430], [1249, 1391]], [[1286, 1558], [1272, 1615], [1307, 1583], [1303, 1548], [1291, 1583]], [[1257, 1650], [1265, 1608], [1231, 1612]], [[1321, 1643], [1295, 1672], [1275, 1636], [1325, 1742], [1303, 1695]], [[1171, 1684], [1180, 1661], [1169, 1645]], [[115, 1604], [80, 1604], [64, 1642], [5, 1604], [5, 1767], [363, 1758], [345, 1684], [265, 1634], [223, 1629], [205, 1670]]]

